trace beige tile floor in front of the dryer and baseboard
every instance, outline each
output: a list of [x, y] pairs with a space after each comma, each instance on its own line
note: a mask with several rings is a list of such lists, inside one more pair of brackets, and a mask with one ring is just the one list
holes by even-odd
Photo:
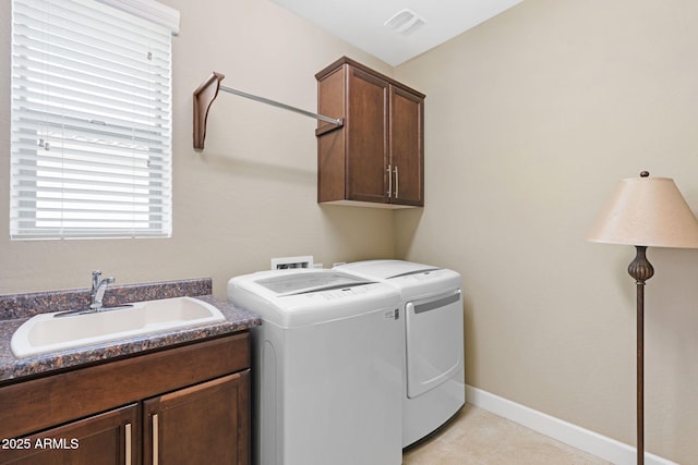
[[410, 446], [402, 465], [602, 465], [610, 462], [466, 404], [432, 437]]

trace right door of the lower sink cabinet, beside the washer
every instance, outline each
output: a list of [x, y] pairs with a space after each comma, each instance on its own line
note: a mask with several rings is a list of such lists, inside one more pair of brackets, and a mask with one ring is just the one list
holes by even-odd
[[144, 464], [249, 464], [250, 370], [143, 403]]

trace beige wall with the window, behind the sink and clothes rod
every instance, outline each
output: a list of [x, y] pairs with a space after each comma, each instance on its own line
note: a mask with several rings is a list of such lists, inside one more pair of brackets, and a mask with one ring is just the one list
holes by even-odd
[[342, 54], [385, 63], [266, 0], [165, 0], [181, 12], [173, 38], [173, 236], [169, 240], [10, 242], [10, 2], [0, 2], [0, 293], [84, 287], [101, 269], [118, 282], [213, 277], [269, 267], [394, 255], [393, 215], [316, 204], [315, 122], [221, 94], [206, 149], [192, 148], [192, 91], [212, 71], [224, 84], [315, 110], [314, 74]]

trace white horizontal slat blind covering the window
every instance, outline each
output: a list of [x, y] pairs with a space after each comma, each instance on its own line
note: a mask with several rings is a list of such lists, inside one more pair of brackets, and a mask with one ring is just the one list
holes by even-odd
[[13, 0], [12, 238], [171, 234], [171, 30]]

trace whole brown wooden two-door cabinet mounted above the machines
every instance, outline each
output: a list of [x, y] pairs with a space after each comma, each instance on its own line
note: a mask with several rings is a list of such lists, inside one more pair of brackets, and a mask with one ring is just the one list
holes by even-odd
[[346, 57], [315, 75], [317, 201], [424, 205], [424, 95]]

